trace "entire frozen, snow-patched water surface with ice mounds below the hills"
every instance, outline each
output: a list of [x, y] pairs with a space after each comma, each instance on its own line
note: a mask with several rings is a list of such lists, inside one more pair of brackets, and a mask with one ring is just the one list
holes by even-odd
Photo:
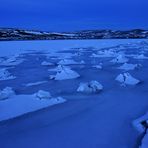
[[148, 148], [147, 40], [0, 49], [0, 147]]

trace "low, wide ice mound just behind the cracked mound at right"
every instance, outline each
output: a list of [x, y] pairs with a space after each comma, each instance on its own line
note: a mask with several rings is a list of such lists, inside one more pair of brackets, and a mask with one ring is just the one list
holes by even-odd
[[140, 64], [128, 64], [128, 63], [124, 63], [123, 65], [121, 65], [118, 69], [123, 69], [123, 70], [134, 70], [138, 67], [140, 67]]

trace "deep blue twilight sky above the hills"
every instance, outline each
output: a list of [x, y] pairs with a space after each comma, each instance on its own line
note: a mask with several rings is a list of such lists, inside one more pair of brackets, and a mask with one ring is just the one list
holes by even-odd
[[148, 0], [0, 0], [0, 27], [148, 29]]

